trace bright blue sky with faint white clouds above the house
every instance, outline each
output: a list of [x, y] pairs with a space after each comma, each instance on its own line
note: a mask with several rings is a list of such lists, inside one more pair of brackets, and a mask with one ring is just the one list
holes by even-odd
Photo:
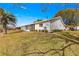
[[0, 3], [0, 8], [16, 17], [17, 26], [32, 24], [37, 19], [49, 20], [60, 10], [77, 7], [77, 4], [73, 3]]

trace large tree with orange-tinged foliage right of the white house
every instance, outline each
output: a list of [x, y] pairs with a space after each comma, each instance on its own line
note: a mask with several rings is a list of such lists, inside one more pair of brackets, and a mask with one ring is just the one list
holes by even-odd
[[61, 16], [66, 25], [76, 25], [79, 21], [76, 19], [78, 15], [75, 17], [75, 13], [79, 14], [75, 9], [66, 9], [59, 11], [56, 16]]

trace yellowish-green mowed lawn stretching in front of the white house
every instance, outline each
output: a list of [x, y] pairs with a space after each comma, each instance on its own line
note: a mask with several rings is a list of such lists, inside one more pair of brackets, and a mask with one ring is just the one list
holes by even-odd
[[[61, 35], [61, 36], [58, 36]], [[0, 55], [2, 56], [56, 56], [62, 55], [62, 51], [52, 49], [61, 49], [67, 43], [64, 38], [76, 39], [79, 31], [67, 32], [18, 32], [10, 31], [7, 35], [0, 34]], [[71, 35], [72, 37], [69, 37]], [[74, 44], [65, 49], [65, 55], [79, 55], [79, 45]]]

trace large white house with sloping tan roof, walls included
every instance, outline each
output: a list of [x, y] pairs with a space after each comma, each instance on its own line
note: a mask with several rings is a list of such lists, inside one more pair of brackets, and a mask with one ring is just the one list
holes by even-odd
[[36, 22], [35, 30], [47, 30], [48, 32], [51, 32], [53, 30], [65, 30], [65, 25], [62, 18], [59, 16], [51, 20]]

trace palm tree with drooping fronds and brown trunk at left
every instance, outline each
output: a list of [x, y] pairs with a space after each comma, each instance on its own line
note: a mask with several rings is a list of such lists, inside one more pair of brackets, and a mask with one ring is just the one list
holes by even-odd
[[4, 11], [0, 16], [2, 16], [0, 20], [1, 24], [3, 25], [3, 31], [5, 34], [7, 34], [7, 25], [11, 22], [16, 24], [15, 16], [10, 13], [5, 13]]

